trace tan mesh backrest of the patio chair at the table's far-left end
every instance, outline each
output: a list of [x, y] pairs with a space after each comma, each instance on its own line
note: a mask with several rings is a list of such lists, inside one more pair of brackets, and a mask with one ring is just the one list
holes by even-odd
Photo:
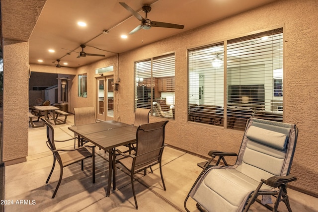
[[74, 124], [75, 126], [95, 123], [94, 107], [78, 107], [74, 108]]

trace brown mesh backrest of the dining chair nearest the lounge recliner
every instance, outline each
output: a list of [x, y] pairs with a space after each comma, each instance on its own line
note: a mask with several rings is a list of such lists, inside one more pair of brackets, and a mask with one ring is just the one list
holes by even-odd
[[[141, 125], [137, 129], [134, 170], [160, 161], [164, 144], [164, 128], [168, 121]], [[140, 156], [138, 156], [140, 155]]]

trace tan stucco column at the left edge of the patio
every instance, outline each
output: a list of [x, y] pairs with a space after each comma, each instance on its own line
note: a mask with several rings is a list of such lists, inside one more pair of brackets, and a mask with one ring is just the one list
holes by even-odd
[[28, 42], [3, 39], [3, 158], [5, 165], [28, 154]]

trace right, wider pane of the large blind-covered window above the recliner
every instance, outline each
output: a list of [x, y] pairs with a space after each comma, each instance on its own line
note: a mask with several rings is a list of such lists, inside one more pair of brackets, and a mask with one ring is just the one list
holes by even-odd
[[283, 120], [282, 68], [282, 28], [227, 42], [227, 128], [243, 131], [250, 117]]

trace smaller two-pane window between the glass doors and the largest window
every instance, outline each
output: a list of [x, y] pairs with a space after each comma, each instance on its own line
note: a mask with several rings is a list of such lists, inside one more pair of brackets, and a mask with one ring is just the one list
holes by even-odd
[[174, 53], [135, 62], [136, 108], [174, 119]]

